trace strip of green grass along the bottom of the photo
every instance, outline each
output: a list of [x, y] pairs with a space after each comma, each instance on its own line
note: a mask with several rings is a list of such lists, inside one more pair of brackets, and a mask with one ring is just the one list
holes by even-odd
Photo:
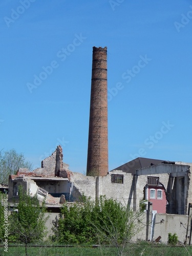
[[[25, 247], [17, 246], [17, 247], [8, 247], [8, 252], [4, 252], [4, 248], [0, 247], [0, 255], [4, 256], [25, 256]], [[75, 246], [75, 247], [28, 247], [28, 255], [29, 256], [51, 256], [51, 255], [65, 255], [65, 256], [79, 256], [79, 255], [93, 255], [93, 256], [116, 256], [117, 251], [114, 247], [83, 247], [83, 246]], [[122, 255], [134, 255], [134, 256], [189, 256], [192, 255], [192, 246], [167, 246], [167, 245], [155, 245], [148, 243], [138, 243], [138, 244], [130, 244], [127, 245]]]

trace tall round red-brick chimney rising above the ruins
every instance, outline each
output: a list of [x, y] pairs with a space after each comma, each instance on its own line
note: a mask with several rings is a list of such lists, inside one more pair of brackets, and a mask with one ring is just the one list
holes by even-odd
[[93, 47], [87, 175], [108, 174], [108, 80], [106, 47]]

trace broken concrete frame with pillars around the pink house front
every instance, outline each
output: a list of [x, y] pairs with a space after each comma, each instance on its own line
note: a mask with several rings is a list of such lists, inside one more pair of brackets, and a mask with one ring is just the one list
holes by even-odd
[[[147, 183], [147, 176], [159, 177], [159, 182], [165, 188], [168, 202], [166, 212], [186, 215], [188, 202], [192, 199], [189, 192], [189, 165], [188, 163], [176, 162], [175, 164], [158, 164], [137, 170], [139, 176], [136, 185], [136, 198], [140, 197], [142, 187]], [[139, 207], [138, 200], [136, 203], [135, 210]]]

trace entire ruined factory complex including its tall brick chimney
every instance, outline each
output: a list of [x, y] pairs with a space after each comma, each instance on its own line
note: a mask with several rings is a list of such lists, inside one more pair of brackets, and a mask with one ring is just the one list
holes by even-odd
[[[9, 202], [18, 200], [18, 186], [22, 185], [31, 196], [46, 200], [54, 219], [64, 202], [79, 201], [82, 195], [92, 200], [100, 196], [113, 198], [134, 211], [139, 211], [141, 202], [146, 200], [148, 216], [152, 216], [150, 240], [154, 236], [162, 237], [166, 242], [168, 232], [175, 232], [176, 227], [182, 239], [186, 233], [187, 240], [188, 230], [191, 233], [188, 227], [192, 216], [192, 163], [139, 157], [108, 173], [106, 55], [106, 47], [93, 47], [87, 176], [71, 172], [69, 165], [63, 163], [61, 146], [57, 146], [55, 152], [41, 162], [40, 168], [33, 172], [20, 168], [16, 175], [10, 175]], [[5, 186], [0, 189], [5, 189]], [[188, 224], [187, 212], [190, 217]], [[173, 214], [176, 215], [174, 219]], [[143, 239], [143, 234], [138, 238]]]

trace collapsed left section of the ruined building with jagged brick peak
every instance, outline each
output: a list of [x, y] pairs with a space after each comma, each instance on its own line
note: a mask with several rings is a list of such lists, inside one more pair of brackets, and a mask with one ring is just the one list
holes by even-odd
[[41, 167], [30, 172], [27, 168], [19, 168], [16, 175], [9, 177], [9, 202], [17, 201], [18, 187], [22, 185], [31, 196], [37, 195], [39, 200], [46, 199], [48, 207], [72, 200], [72, 184], [69, 165], [62, 161], [62, 148], [57, 146], [53, 154], [41, 162]]

